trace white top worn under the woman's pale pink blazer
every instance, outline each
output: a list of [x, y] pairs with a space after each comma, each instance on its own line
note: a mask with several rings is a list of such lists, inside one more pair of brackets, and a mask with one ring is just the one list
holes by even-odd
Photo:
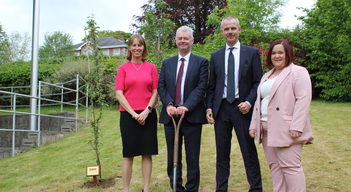
[[267, 79], [261, 85], [261, 121], [267, 121], [268, 101], [269, 95], [271, 94], [272, 85], [278, 76]]

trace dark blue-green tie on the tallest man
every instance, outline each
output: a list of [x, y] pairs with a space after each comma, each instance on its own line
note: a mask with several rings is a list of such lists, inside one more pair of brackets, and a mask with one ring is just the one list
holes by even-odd
[[233, 103], [235, 100], [235, 61], [232, 50], [234, 47], [229, 48], [228, 56], [228, 70], [227, 70], [227, 101]]

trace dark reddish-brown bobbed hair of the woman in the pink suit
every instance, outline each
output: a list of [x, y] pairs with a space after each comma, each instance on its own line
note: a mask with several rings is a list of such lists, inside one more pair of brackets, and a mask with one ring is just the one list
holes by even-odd
[[285, 49], [285, 67], [286, 67], [290, 63], [292, 63], [292, 60], [294, 59], [294, 52], [292, 51], [291, 44], [286, 39], [278, 39], [278, 40], [275, 40], [271, 44], [271, 46], [268, 49], [268, 54], [267, 54], [267, 59], [266, 59], [267, 66], [268, 67], [273, 67], [273, 63], [272, 63], [272, 60], [271, 60], [271, 55], [272, 55], [273, 47], [276, 46], [277, 44], [282, 44], [284, 49]]

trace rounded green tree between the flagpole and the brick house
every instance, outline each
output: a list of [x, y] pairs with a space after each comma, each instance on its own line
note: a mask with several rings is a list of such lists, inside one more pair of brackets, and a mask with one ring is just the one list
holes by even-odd
[[39, 48], [40, 58], [58, 58], [73, 54], [73, 37], [65, 32], [54, 31], [44, 35], [44, 43]]

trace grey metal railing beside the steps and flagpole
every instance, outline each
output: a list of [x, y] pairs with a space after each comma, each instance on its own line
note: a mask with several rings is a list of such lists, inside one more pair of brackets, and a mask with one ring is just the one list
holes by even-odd
[[[85, 83], [81, 87], [79, 87], [79, 81], [80, 80]], [[64, 84], [71, 83], [71, 82], [74, 82], [74, 81], [77, 83], [77, 86], [76, 86], [75, 90], [64, 87]], [[42, 84], [44, 84], [44, 85], [42, 85]], [[59, 86], [59, 85], [61, 85], [61, 86]], [[46, 87], [46, 86], [53, 86], [53, 87], [59, 88], [59, 89], [61, 89], [61, 93], [60, 94], [41, 95], [41, 88], [42, 87]], [[84, 78], [80, 77], [79, 75], [77, 75], [77, 79], [71, 80], [71, 81], [67, 81], [65, 83], [51, 84], [51, 83], [46, 83], [46, 82], [39, 81], [39, 86], [38, 86], [39, 94], [38, 94], [38, 97], [33, 97], [33, 96], [29, 96], [29, 95], [14, 93], [13, 92], [14, 88], [29, 88], [29, 87], [1, 87], [0, 88], [0, 89], [11, 89], [11, 92], [1, 91], [0, 90], [1, 94], [11, 95], [11, 96], [1, 96], [2, 98], [10, 98], [11, 97], [11, 106], [0, 106], [0, 107], [7, 107], [7, 108], [10, 107], [11, 110], [10, 111], [8, 111], [8, 110], [0, 110], [0, 112], [8, 112], [8, 113], [12, 114], [12, 116], [13, 116], [13, 118], [12, 118], [12, 129], [0, 129], [0, 131], [12, 131], [12, 157], [15, 156], [15, 132], [16, 131], [37, 132], [38, 133], [38, 147], [40, 146], [40, 117], [41, 116], [75, 120], [75, 131], [76, 132], [77, 132], [77, 127], [78, 127], [78, 112], [79, 111], [86, 110], [86, 112], [85, 112], [85, 121], [86, 122], [88, 121], [88, 92], [86, 91], [88, 89], [88, 84], [84, 80]], [[83, 88], [85, 88], [84, 89], [85, 91], [82, 91]], [[64, 90], [66, 90], [67, 92], [64, 92]], [[75, 101], [64, 102], [63, 101], [63, 95], [64, 94], [68, 94], [68, 93], [72, 93], [72, 92], [74, 92], [76, 94]], [[79, 93], [81, 93], [83, 95], [83, 97], [79, 98]], [[61, 95], [61, 101], [55, 101], [55, 100], [42, 98], [43, 96], [50, 96], [50, 95]], [[17, 105], [16, 106], [16, 98], [17, 97], [26, 97], [26, 98], [37, 99], [38, 100], [38, 111], [37, 111], [37, 113], [33, 114], [33, 113], [16, 111], [16, 107], [29, 107], [29, 105]], [[85, 105], [79, 103], [79, 101], [82, 101], [84, 98], [85, 98]], [[41, 104], [41, 101], [53, 102], [54, 104]], [[40, 113], [41, 106], [46, 106], [46, 105], [61, 105], [61, 112], [63, 110], [63, 105], [73, 105], [73, 106], [75, 106], [75, 118], [59, 117], [59, 116], [41, 114]], [[81, 106], [82, 109], [79, 109], [79, 106]], [[37, 123], [37, 127], [38, 128], [37, 128], [37, 130], [18, 130], [18, 129], [16, 129], [16, 127], [15, 127], [16, 114], [38, 116], [38, 123]]]

